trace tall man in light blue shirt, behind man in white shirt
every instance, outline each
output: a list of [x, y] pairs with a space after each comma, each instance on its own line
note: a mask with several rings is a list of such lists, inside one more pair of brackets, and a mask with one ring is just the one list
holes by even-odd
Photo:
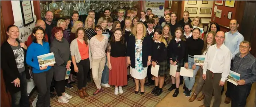
[[[232, 53], [232, 60], [231, 63], [233, 63], [233, 59], [235, 55], [239, 52], [239, 45], [242, 41], [244, 41], [244, 36], [242, 36], [241, 33], [238, 32], [237, 28], [239, 27], [239, 24], [236, 19], [230, 20], [230, 31], [226, 32], [226, 39], [224, 41], [224, 44], [227, 46], [227, 48], [231, 51]], [[231, 64], [232, 68], [233, 64]], [[226, 91], [226, 99], [224, 103], [229, 104], [230, 103], [230, 85], [232, 83], [227, 82], [227, 91]]]

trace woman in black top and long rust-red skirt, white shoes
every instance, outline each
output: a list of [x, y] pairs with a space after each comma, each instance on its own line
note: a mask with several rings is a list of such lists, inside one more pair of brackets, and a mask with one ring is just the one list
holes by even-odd
[[109, 85], [115, 85], [115, 95], [124, 93], [122, 86], [127, 85], [126, 44], [121, 28], [115, 29], [114, 35], [107, 45], [109, 64]]

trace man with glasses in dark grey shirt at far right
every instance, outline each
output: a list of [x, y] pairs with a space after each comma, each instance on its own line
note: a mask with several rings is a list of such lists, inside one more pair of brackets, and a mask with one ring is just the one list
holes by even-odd
[[237, 86], [230, 84], [229, 93], [232, 99], [231, 107], [245, 107], [246, 99], [250, 94], [253, 82], [256, 82], [256, 58], [250, 54], [249, 41], [239, 44], [240, 52], [235, 55], [232, 71], [240, 74]]

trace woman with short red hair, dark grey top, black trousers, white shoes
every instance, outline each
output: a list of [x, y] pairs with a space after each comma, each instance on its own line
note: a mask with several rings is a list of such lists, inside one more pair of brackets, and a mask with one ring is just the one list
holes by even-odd
[[65, 93], [66, 70], [70, 68], [71, 64], [69, 42], [63, 38], [63, 30], [61, 27], [53, 27], [52, 34], [54, 34], [55, 37], [52, 41], [50, 50], [54, 53], [56, 62], [53, 66], [53, 77], [56, 81], [55, 88], [59, 96], [58, 102], [68, 103], [69, 99], [72, 98], [72, 96]]

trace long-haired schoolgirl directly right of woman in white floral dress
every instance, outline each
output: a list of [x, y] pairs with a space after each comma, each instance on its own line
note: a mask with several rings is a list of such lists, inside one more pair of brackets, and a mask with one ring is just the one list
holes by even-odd
[[158, 77], [155, 77], [155, 88], [151, 92], [155, 94], [155, 96], [161, 95], [163, 93], [163, 85], [164, 85], [164, 74], [167, 71], [167, 42], [163, 38], [161, 29], [157, 29], [154, 33], [153, 38], [154, 43], [152, 44], [152, 58], [151, 63], [152, 66], [159, 66]]

